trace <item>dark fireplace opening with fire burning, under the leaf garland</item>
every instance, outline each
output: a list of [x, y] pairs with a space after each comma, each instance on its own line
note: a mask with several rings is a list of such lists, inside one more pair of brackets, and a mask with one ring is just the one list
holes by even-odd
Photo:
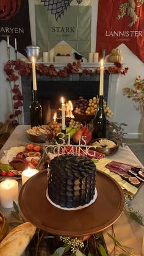
[[[29, 105], [32, 101], [32, 78], [21, 77], [24, 96], [24, 124], [30, 123]], [[54, 112], [60, 108], [60, 97], [65, 101], [95, 97], [99, 94], [99, 75], [82, 76], [73, 74], [66, 77], [41, 76], [37, 79], [38, 101], [43, 107], [43, 123], [52, 120]], [[109, 75], [104, 75], [104, 99], [107, 101], [109, 92]]]

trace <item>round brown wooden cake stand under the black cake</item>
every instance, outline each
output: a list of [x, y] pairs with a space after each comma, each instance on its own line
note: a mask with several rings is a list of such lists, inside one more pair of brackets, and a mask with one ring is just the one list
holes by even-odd
[[120, 217], [124, 194], [118, 183], [103, 172], [96, 174], [98, 197], [87, 208], [60, 210], [46, 199], [47, 172], [30, 178], [21, 188], [19, 205], [27, 221], [56, 235], [84, 236], [107, 229]]

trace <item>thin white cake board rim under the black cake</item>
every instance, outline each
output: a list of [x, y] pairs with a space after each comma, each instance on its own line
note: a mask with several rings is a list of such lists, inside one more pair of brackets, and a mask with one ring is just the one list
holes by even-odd
[[79, 207], [75, 207], [75, 208], [60, 207], [60, 205], [56, 205], [56, 203], [52, 202], [52, 200], [49, 198], [49, 195], [48, 195], [48, 189], [46, 189], [46, 198], [49, 200], [49, 202], [52, 205], [54, 205], [54, 207], [57, 207], [57, 208], [62, 209], [62, 210], [67, 210], [67, 211], [81, 210], [81, 209], [84, 209], [86, 207], [89, 207], [90, 205], [92, 205], [92, 203], [95, 202], [97, 197], [98, 197], [98, 192], [95, 188], [95, 194], [94, 194], [93, 199], [89, 203], [87, 203], [86, 205], [83, 205], [83, 206], [80, 205]]

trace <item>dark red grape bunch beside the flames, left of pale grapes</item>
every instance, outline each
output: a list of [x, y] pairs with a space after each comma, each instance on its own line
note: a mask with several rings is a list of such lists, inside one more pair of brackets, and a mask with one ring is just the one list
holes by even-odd
[[82, 96], [74, 103], [74, 113], [76, 114], [85, 114], [85, 110], [88, 107], [88, 101]]

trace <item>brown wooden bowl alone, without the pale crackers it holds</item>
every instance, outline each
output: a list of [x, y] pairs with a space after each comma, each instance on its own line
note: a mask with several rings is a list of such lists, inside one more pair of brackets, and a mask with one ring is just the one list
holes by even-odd
[[[98, 141], [98, 142], [99, 142], [100, 139], [107, 139], [107, 138], [93, 139], [93, 140], [90, 142], [90, 145], [92, 145], [93, 142], [95, 142], [95, 141]], [[108, 139], [108, 140], [109, 140], [109, 141], [113, 141], [113, 139]], [[92, 149], [95, 150], [96, 152], [103, 153], [103, 154], [106, 155], [106, 156], [110, 156], [110, 155], [113, 155], [113, 154], [117, 153], [117, 151], [118, 151], [118, 144], [117, 144], [117, 142], [116, 142], [116, 141], [113, 141], [113, 142], [115, 142], [115, 144], [116, 144], [115, 147], [112, 147], [112, 148], [106, 148], [106, 147], [100, 148], [100, 147], [96, 147], [96, 148], [92, 148]]]

